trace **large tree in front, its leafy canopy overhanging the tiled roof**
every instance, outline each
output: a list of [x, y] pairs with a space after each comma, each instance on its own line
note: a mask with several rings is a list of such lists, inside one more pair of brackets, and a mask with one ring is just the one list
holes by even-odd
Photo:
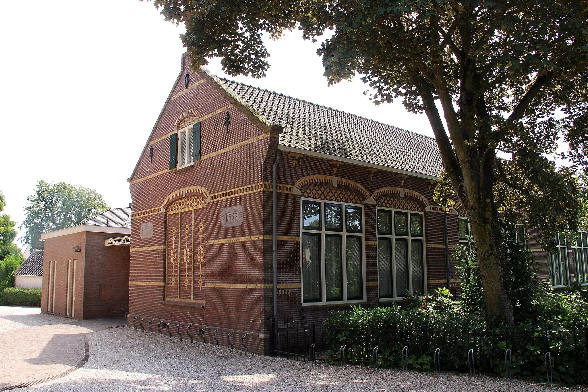
[[[563, 133], [576, 152], [571, 158], [582, 164], [588, 143], [588, 2], [154, 3], [169, 21], [185, 23], [181, 38], [195, 69], [207, 57], [218, 56], [230, 75], [262, 77], [269, 66], [262, 34], [277, 38], [298, 25], [303, 38], [313, 41], [332, 33], [318, 50], [329, 83], [359, 73], [376, 104], [400, 99], [409, 111], [425, 112], [447, 178], [469, 213], [486, 314], [512, 323], [496, 185], [502, 181], [529, 198], [549, 199], [545, 194], [556, 192], [569, 215], [577, 218], [577, 187], [568, 173], [545, 162], [544, 153], [554, 152]], [[498, 159], [499, 151], [508, 162]], [[523, 172], [526, 177], [521, 178]], [[549, 206], [539, 212], [553, 230], [564, 229]], [[565, 228], [575, 230], [576, 220]]]

